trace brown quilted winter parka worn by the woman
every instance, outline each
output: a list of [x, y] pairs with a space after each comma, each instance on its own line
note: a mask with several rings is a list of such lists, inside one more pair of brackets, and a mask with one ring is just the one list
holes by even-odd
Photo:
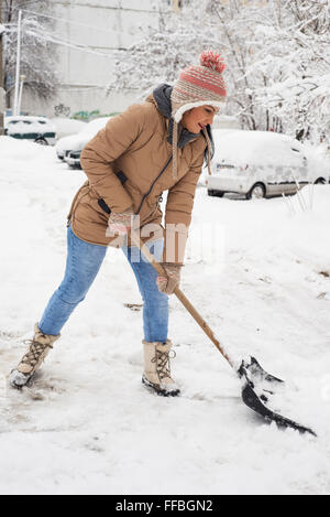
[[[119, 214], [132, 206], [140, 216], [142, 239], [160, 238], [161, 228], [165, 237], [163, 260], [183, 263], [207, 142], [200, 134], [177, 149], [178, 177], [174, 180], [168, 130], [169, 119], [151, 95], [145, 103], [111, 118], [84, 148], [80, 162], [88, 181], [76, 194], [68, 217], [78, 238], [122, 246], [118, 238], [106, 235], [107, 207]], [[164, 235], [160, 201], [165, 191]]]

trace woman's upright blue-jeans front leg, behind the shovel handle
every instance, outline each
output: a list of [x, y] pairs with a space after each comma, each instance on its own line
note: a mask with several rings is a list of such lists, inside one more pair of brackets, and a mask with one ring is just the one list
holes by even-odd
[[[151, 243], [147, 247], [157, 260], [162, 260], [163, 240]], [[144, 302], [144, 338], [150, 343], [155, 341], [166, 343], [168, 333], [168, 297], [158, 290], [156, 284], [158, 273], [154, 267], [141, 256], [141, 251], [138, 247], [124, 247], [122, 250], [136, 277]]]

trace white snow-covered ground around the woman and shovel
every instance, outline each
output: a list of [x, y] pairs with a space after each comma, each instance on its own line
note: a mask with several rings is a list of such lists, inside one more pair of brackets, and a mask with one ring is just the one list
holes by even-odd
[[[141, 384], [142, 313], [133, 273], [109, 250], [35, 385], [6, 376], [64, 272], [66, 214], [85, 181], [54, 148], [0, 138], [0, 493], [329, 494], [330, 185], [295, 215], [282, 198], [233, 201], [198, 189], [183, 290], [235, 360], [287, 379], [279, 431], [241, 401], [239, 380], [170, 301], [183, 395]], [[309, 206], [310, 192], [304, 190]]]

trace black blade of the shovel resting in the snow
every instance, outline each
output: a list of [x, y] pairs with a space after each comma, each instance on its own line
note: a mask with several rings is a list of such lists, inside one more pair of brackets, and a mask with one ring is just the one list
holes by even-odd
[[[243, 379], [243, 388], [242, 388], [242, 399], [245, 406], [248, 406], [250, 409], [255, 411], [257, 414], [263, 417], [266, 421], [268, 422], [275, 422], [279, 428], [282, 429], [294, 429], [295, 431], [299, 431], [300, 433], [309, 433], [312, 434], [314, 437], [317, 437], [317, 434], [308, 428], [305, 428], [304, 426], [300, 426], [299, 423], [295, 422], [294, 420], [290, 420], [286, 417], [283, 417], [279, 413], [276, 413], [275, 411], [272, 411], [268, 409], [262, 398], [255, 392], [254, 390], [254, 385], [253, 383], [249, 379], [248, 371], [245, 370], [245, 367], [243, 366], [243, 363], [239, 369], [239, 376], [241, 379]], [[273, 377], [273, 376], [271, 376]], [[276, 379], [276, 377], [274, 377]], [[270, 379], [268, 379], [270, 380]], [[279, 379], [277, 379], [279, 383]], [[262, 396], [263, 397], [263, 396]], [[266, 400], [266, 399], [265, 399]]]

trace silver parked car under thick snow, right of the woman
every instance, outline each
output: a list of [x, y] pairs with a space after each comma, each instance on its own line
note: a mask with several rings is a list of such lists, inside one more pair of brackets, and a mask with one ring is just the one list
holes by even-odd
[[295, 194], [308, 183], [329, 183], [330, 171], [310, 146], [287, 134], [266, 131], [215, 130], [210, 196], [226, 193], [246, 198]]

